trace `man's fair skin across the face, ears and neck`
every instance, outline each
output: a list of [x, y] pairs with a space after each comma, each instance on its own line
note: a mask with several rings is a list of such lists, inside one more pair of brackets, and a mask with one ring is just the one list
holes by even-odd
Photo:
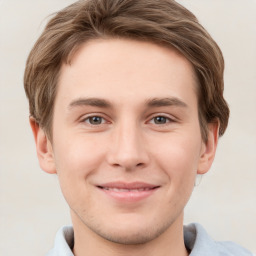
[[[63, 64], [52, 141], [30, 123], [70, 206], [75, 255], [188, 255], [183, 210], [218, 140], [218, 122], [202, 140], [196, 89], [190, 62], [149, 42], [93, 40]], [[109, 182], [156, 188], [134, 200], [99, 188]]]

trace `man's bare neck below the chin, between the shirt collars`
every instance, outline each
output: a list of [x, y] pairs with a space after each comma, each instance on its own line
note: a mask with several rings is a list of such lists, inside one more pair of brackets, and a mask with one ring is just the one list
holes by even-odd
[[188, 256], [184, 245], [183, 215], [157, 238], [144, 244], [126, 245], [108, 241], [90, 230], [79, 218], [72, 217], [75, 256]]

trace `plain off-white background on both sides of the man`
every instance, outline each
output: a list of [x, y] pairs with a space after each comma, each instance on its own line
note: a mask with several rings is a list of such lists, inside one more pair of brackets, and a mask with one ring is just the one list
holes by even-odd
[[[72, 0], [0, 0], [0, 255], [45, 255], [70, 224], [56, 176], [40, 170], [23, 90], [27, 55], [48, 15]], [[216, 240], [256, 252], [256, 1], [183, 0], [220, 45], [228, 130], [186, 207]]]

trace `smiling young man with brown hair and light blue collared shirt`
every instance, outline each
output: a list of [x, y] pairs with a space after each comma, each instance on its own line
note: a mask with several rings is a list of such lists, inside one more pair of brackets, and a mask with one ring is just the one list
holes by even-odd
[[172, 0], [78, 1], [50, 20], [24, 78], [40, 166], [73, 223], [48, 255], [252, 255], [183, 228], [227, 127], [223, 69]]

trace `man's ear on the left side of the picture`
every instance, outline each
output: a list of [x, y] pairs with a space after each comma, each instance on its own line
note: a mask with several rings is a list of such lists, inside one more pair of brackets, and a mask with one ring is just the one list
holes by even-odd
[[36, 152], [42, 170], [47, 173], [56, 173], [52, 143], [33, 117], [29, 118], [30, 126], [34, 134]]

